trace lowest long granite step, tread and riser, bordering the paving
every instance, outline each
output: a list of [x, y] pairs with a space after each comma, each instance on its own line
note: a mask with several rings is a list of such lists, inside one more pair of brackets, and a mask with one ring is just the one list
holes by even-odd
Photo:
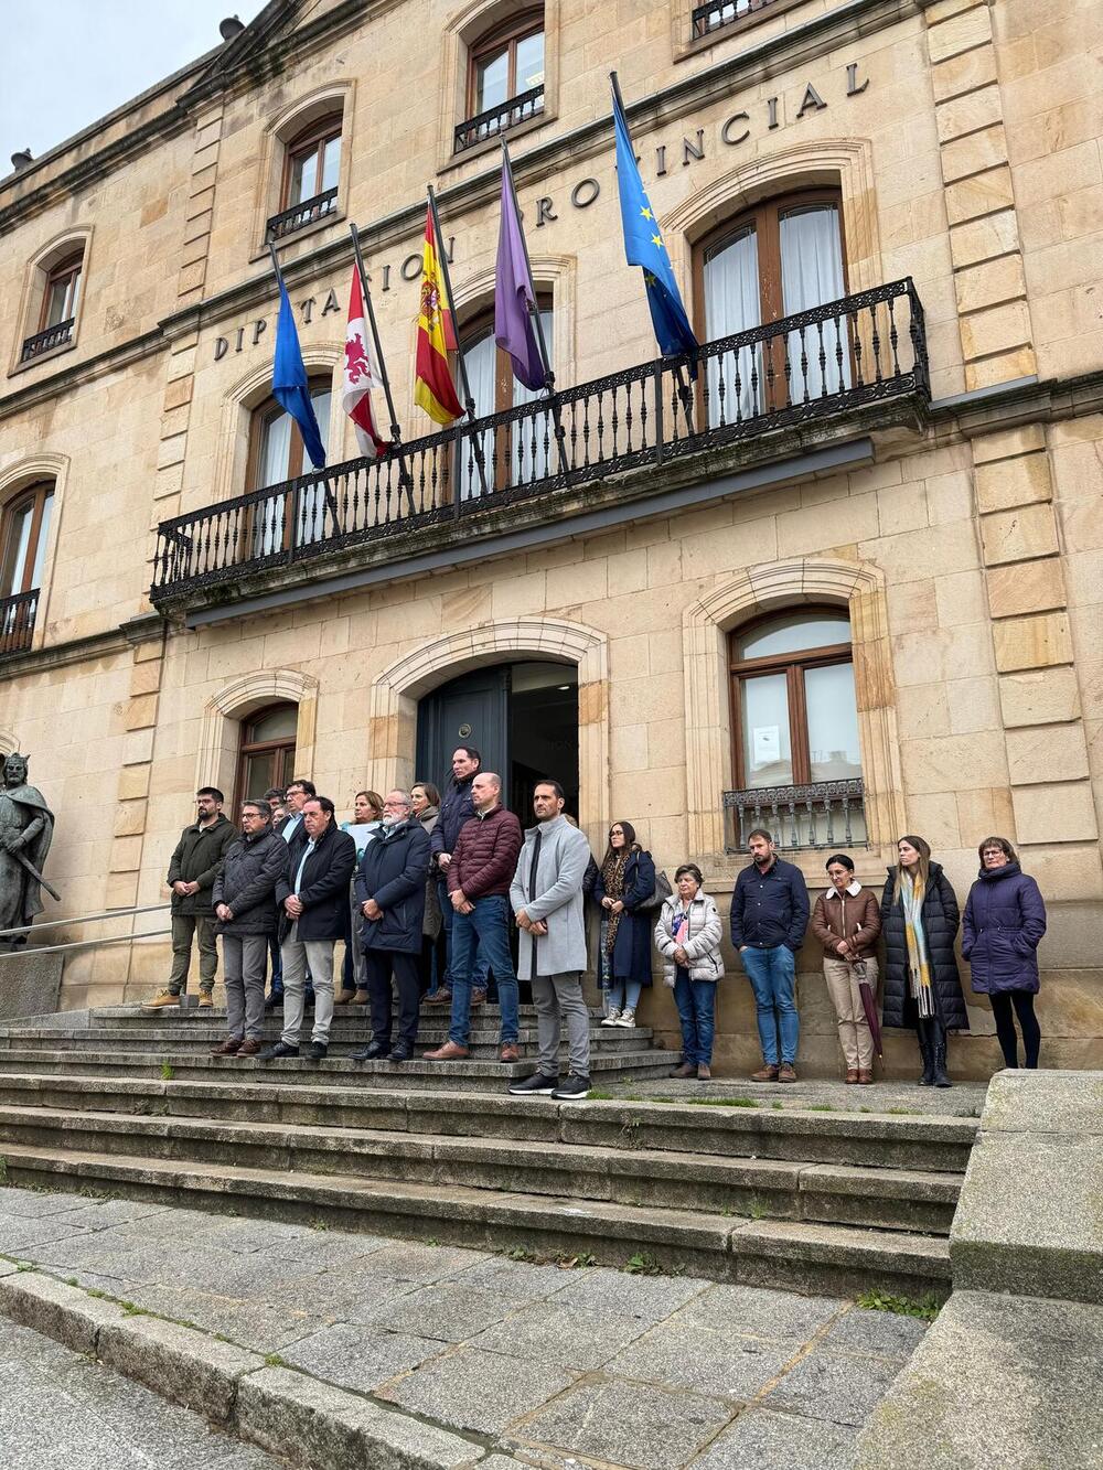
[[[585, 1104], [582, 1104], [585, 1105]], [[9, 1180], [85, 1188], [266, 1219], [437, 1239], [484, 1250], [588, 1254], [609, 1264], [646, 1257], [668, 1272], [807, 1292], [884, 1291], [946, 1295], [943, 1236], [803, 1220], [729, 1216], [518, 1191], [362, 1176], [287, 1173], [193, 1160], [4, 1144]]]

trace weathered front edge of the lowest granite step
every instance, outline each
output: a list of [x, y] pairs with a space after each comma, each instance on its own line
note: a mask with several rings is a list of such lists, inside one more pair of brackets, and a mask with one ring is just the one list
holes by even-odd
[[[588, 1238], [600, 1235], [604, 1242], [616, 1241], [638, 1248], [677, 1244], [699, 1255], [735, 1263], [746, 1255], [804, 1260], [827, 1258], [829, 1264], [850, 1270], [882, 1270], [915, 1274], [927, 1279], [950, 1280], [950, 1242], [944, 1236], [916, 1235], [904, 1230], [881, 1230], [863, 1226], [812, 1225], [791, 1220], [732, 1220], [728, 1216], [668, 1210], [660, 1205], [627, 1205], [588, 1201], [585, 1207], [549, 1195], [507, 1194], [494, 1189], [471, 1189], [447, 1185], [438, 1189], [410, 1180], [385, 1180], [326, 1175], [287, 1175], [282, 1170], [229, 1169], [219, 1164], [190, 1164], [182, 1160], [147, 1158], [124, 1161], [106, 1154], [85, 1154], [75, 1150], [34, 1148], [6, 1144], [9, 1175], [15, 1170], [37, 1170], [82, 1180], [100, 1179], [115, 1183], [137, 1183], [138, 1188], [171, 1188], [174, 1192], [193, 1191], [216, 1195], [219, 1200], [256, 1198], [318, 1204], [334, 1211], [363, 1204], [379, 1216], [413, 1214], [419, 1225], [429, 1222], [501, 1226], [506, 1229], [537, 1229], [556, 1236]], [[18, 1179], [16, 1179], [18, 1183]], [[335, 1216], [340, 1219], [340, 1216]], [[506, 1238], [507, 1239], [507, 1238]], [[485, 1248], [485, 1247], [481, 1247]], [[885, 1266], [884, 1258], [891, 1264]], [[731, 1279], [725, 1274], [725, 1279]], [[738, 1277], [737, 1277], [738, 1279]]]

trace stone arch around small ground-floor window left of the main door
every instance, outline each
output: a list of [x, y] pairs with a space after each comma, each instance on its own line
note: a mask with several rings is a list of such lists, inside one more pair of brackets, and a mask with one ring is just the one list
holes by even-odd
[[265, 669], [243, 675], [207, 700], [196, 753], [196, 789], [234, 791], [238, 779], [243, 723], [275, 704], [294, 704], [296, 776], [312, 776], [318, 728], [318, 681], [297, 669]]

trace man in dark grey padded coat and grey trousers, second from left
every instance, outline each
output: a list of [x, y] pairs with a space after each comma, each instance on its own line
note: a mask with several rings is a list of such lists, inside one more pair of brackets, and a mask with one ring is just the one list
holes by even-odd
[[215, 929], [222, 935], [229, 1035], [212, 1057], [256, 1057], [265, 1020], [265, 961], [276, 933], [275, 886], [287, 876], [287, 842], [272, 831], [268, 801], [241, 807], [240, 842], [215, 879]]

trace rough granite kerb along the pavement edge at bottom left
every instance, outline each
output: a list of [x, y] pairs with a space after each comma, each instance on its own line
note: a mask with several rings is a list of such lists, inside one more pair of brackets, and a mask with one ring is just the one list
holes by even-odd
[[338, 1458], [403, 1470], [465, 1470], [494, 1454], [485, 1436], [440, 1429], [287, 1364], [269, 1366], [200, 1327], [135, 1314], [38, 1269], [0, 1274], [0, 1311], [269, 1454], [282, 1455], [293, 1442], [300, 1463]]

